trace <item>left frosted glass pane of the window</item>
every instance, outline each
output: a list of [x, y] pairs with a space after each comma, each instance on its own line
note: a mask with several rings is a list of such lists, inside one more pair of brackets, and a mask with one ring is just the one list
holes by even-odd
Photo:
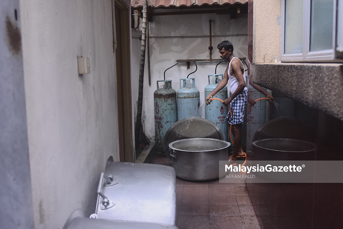
[[285, 0], [285, 54], [303, 52], [304, 0]]

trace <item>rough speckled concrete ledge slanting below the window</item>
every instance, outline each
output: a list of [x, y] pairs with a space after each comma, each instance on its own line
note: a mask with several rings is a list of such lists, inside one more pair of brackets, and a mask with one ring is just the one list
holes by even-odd
[[342, 64], [256, 64], [254, 81], [343, 120]]

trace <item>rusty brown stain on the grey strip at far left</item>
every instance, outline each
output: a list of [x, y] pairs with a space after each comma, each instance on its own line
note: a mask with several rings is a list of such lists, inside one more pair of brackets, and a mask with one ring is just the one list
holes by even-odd
[[9, 16], [6, 17], [6, 34], [10, 51], [18, 55], [21, 50], [21, 34], [18, 26], [12, 23]]

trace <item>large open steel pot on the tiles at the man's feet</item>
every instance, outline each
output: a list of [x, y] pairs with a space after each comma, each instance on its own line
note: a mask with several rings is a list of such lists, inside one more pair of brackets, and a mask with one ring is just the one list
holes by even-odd
[[230, 143], [213, 138], [188, 138], [169, 144], [176, 176], [188, 181], [219, 178], [219, 161], [228, 160]]

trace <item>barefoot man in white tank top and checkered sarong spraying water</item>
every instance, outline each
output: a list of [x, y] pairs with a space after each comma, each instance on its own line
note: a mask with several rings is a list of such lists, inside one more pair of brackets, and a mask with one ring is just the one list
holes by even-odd
[[229, 161], [236, 161], [237, 156], [244, 156], [240, 141], [242, 138], [242, 123], [244, 118], [244, 108], [247, 104], [248, 89], [246, 87], [246, 76], [242, 62], [233, 55], [234, 47], [229, 41], [222, 41], [218, 44], [220, 57], [228, 62], [224, 78], [220, 81], [217, 87], [207, 96], [205, 103], [210, 104], [213, 96], [222, 90], [227, 82], [230, 82], [231, 96], [224, 100], [225, 106], [230, 105], [232, 116], [230, 113], [226, 115], [228, 123], [233, 127], [234, 134], [234, 149]]

